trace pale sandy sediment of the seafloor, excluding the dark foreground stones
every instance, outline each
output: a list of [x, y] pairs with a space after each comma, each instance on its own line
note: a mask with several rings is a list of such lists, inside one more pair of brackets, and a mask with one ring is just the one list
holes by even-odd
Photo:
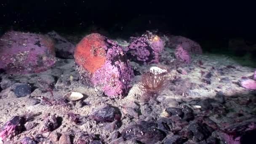
[[[140, 120], [149, 120], [152, 118], [155, 120], [160, 119], [160, 117], [164, 116], [163, 112], [166, 108], [179, 107], [181, 105], [192, 108], [197, 118], [210, 118], [210, 120], [214, 121], [219, 128], [223, 130], [236, 123], [244, 123], [245, 121], [256, 122], [256, 91], [250, 91], [237, 85], [241, 77], [250, 77], [255, 69], [241, 66], [232, 60], [232, 57], [207, 53], [203, 55], [193, 55], [192, 64], [189, 65], [173, 64], [173, 60], [175, 60], [174, 50], [165, 48], [160, 59], [160, 64], [140, 66], [135, 62], [131, 62], [131, 65], [137, 67], [141, 73], [149, 71], [149, 68], [152, 66], [159, 66], [168, 69], [168, 72], [172, 75], [172, 80], [174, 80], [175, 77], [180, 77], [176, 82], [170, 81], [168, 88], [160, 92], [156, 100], [149, 101], [148, 103], [142, 101], [140, 97], [142, 92], [138, 88], [138, 82], [141, 75], [133, 78], [128, 96], [125, 96], [123, 99], [109, 99], [103, 96], [100, 91], [83, 83], [83, 80], [80, 79], [76, 71], [73, 59], [58, 59], [54, 67], [37, 74], [1, 74], [2, 81], [5, 80], [8, 81], [8, 83], [29, 83], [32, 85], [33, 91], [30, 95], [21, 98], [17, 98], [13, 91], [11, 91], [11, 88], [6, 88], [0, 92], [0, 125], [4, 125], [4, 123], [16, 115], [37, 114], [33, 121], [27, 122], [33, 124], [38, 123], [37, 125], [28, 131], [23, 131], [9, 141], [10, 144], [16, 144], [19, 143], [20, 139], [24, 136], [33, 137], [40, 134], [43, 119], [45, 115], [50, 113], [51, 115], [62, 118], [61, 125], [53, 132], [75, 137], [77, 133], [84, 131], [99, 136], [99, 139], [107, 144], [112, 141], [111, 134], [113, 133], [112, 130], [107, 129], [105, 126], [109, 123], [97, 123], [95, 120], [85, 118], [83, 125], [77, 125], [68, 118], [67, 113], [74, 112], [75, 114], [87, 117], [93, 110], [102, 107], [104, 104], [110, 104], [117, 107], [122, 113], [122, 123], [114, 130], [120, 132]], [[200, 65], [199, 61], [202, 61], [203, 65]], [[187, 71], [187, 75], [177, 72], [177, 69]], [[202, 72], [204, 72], [203, 75]], [[211, 81], [211, 84], [207, 84], [204, 81], [204, 79], [207, 79], [205, 75], [209, 72], [211, 72], [212, 75], [211, 78], [208, 79]], [[83, 93], [85, 96], [85, 99], [81, 100], [84, 101], [84, 105], [81, 104], [81, 101], [69, 102], [70, 107], [41, 104], [40, 100], [38, 100], [40, 96], [51, 98], [51, 93], [45, 91], [38, 84], [40, 77], [43, 77], [45, 80], [53, 81], [54, 99], [61, 99], [65, 93], [75, 91]], [[70, 77], [72, 77], [72, 80], [70, 80]], [[223, 78], [224, 80], [221, 80]], [[216, 94], [219, 91], [224, 94], [224, 103], [208, 103], [213, 106], [213, 109], [208, 109], [207, 107], [202, 109], [202, 107], [200, 108], [200, 106], [198, 106], [200, 105], [200, 101], [205, 99], [218, 99]], [[128, 116], [124, 112], [123, 107], [133, 102], [139, 105], [139, 119], [131, 118], [131, 116]], [[223, 113], [221, 110], [218, 110], [218, 107], [222, 110], [224, 109], [225, 112]], [[48, 135], [49, 133], [43, 133], [45, 137]], [[172, 135], [173, 133], [170, 132], [167, 137]], [[193, 140], [188, 140], [185, 143], [192, 141]], [[217, 141], [221, 143], [219, 139]], [[126, 143], [136, 142], [127, 141]], [[158, 143], [161, 143], [161, 141]]]

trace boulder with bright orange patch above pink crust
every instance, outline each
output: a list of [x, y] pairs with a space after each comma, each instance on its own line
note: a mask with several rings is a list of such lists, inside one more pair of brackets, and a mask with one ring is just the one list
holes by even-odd
[[75, 49], [75, 62], [83, 80], [88, 80], [105, 95], [123, 97], [134, 75], [123, 49], [112, 40], [93, 33]]

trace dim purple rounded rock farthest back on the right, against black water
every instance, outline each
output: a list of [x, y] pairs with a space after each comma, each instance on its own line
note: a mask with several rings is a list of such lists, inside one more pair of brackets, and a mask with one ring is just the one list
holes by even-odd
[[170, 38], [170, 47], [177, 48], [179, 45], [182, 46], [187, 52], [195, 53], [195, 54], [202, 54], [201, 46], [193, 40], [189, 38], [182, 37], [182, 36], [171, 36]]

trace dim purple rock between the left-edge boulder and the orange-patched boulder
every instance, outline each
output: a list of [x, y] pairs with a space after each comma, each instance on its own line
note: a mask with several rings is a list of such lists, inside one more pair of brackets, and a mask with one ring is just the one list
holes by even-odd
[[51, 37], [55, 44], [56, 57], [62, 59], [72, 59], [74, 57], [75, 45], [70, 43], [64, 37], [61, 37], [57, 32], [52, 31], [47, 34]]

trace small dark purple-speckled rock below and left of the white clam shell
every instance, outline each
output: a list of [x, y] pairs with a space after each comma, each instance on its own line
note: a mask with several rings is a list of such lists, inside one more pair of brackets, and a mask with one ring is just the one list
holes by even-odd
[[55, 115], [50, 115], [46, 118], [41, 126], [40, 130], [42, 133], [50, 132], [59, 127], [59, 123], [55, 117]]

